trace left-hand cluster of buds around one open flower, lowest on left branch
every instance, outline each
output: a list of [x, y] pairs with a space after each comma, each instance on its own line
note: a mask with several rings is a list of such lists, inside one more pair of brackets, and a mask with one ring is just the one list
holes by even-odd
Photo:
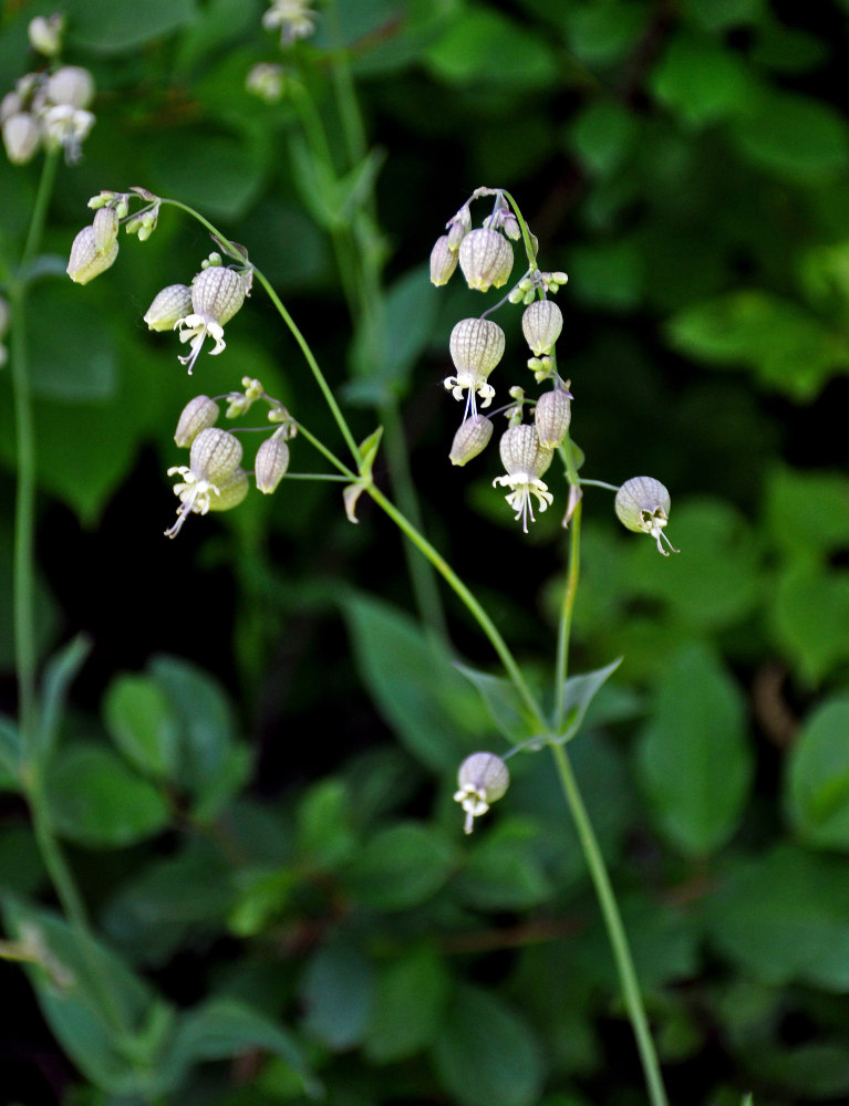
[[294, 420], [279, 400], [266, 394], [259, 380], [246, 376], [241, 386], [244, 392], [230, 392], [217, 399], [195, 396], [183, 408], [174, 441], [180, 449], [189, 450], [189, 460], [188, 465], [168, 469], [169, 477], [182, 479], [174, 487], [180, 503], [177, 521], [165, 531], [167, 538], [177, 536], [189, 514], [229, 511], [248, 494], [250, 473], [241, 465], [241, 442], [230, 430], [216, 426], [221, 414], [218, 399], [227, 400], [226, 417], [230, 419], [246, 414], [257, 400], [269, 407], [268, 420], [275, 430], [257, 450], [252, 476], [258, 491], [271, 494], [289, 468], [287, 440], [297, 434]]

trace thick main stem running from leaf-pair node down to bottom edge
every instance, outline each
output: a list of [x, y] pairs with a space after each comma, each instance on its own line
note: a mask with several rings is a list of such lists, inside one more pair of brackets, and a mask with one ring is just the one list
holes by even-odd
[[663, 1086], [658, 1054], [649, 1030], [649, 1021], [645, 1016], [640, 984], [636, 980], [631, 949], [625, 936], [622, 916], [619, 912], [617, 899], [610, 885], [610, 877], [604, 865], [604, 859], [596, 839], [592, 825], [590, 824], [587, 808], [583, 805], [578, 781], [574, 778], [572, 765], [562, 744], [552, 744], [551, 755], [555, 758], [563, 795], [571, 811], [578, 836], [581, 841], [581, 848], [590, 869], [590, 876], [596, 887], [596, 894], [604, 918], [604, 926], [608, 930], [608, 938], [613, 950], [613, 958], [617, 962], [622, 994], [628, 1008], [628, 1014], [636, 1039], [636, 1047], [640, 1053], [640, 1061], [643, 1066], [645, 1082], [649, 1088], [649, 1096], [653, 1106], [666, 1106], [666, 1092]]

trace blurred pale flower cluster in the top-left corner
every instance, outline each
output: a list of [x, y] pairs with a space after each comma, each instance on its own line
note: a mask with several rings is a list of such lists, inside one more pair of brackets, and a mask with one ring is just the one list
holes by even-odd
[[[62, 48], [64, 20], [39, 17], [29, 25], [30, 43], [55, 59]], [[60, 65], [20, 77], [0, 101], [0, 127], [10, 161], [25, 165], [39, 149], [63, 149], [69, 165], [79, 161], [82, 143], [94, 126], [89, 111], [94, 79], [79, 65]]]

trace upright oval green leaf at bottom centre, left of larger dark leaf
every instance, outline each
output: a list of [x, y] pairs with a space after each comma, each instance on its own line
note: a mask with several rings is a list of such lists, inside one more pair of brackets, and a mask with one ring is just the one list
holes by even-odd
[[451, 975], [433, 946], [422, 943], [393, 960], [377, 977], [363, 1042], [369, 1060], [392, 1064], [426, 1048], [444, 1018], [449, 990]]

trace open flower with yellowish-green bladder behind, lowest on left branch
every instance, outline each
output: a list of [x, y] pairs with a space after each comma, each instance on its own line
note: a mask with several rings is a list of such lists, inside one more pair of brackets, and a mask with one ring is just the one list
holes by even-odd
[[208, 427], [197, 435], [189, 463], [168, 469], [169, 477], [178, 473], [183, 481], [174, 487], [180, 505], [166, 538], [176, 538], [189, 514], [229, 511], [241, 503], [248, 494], [248, 477], [239, 467], [241, 452], [241, 442], [229, 430]]

